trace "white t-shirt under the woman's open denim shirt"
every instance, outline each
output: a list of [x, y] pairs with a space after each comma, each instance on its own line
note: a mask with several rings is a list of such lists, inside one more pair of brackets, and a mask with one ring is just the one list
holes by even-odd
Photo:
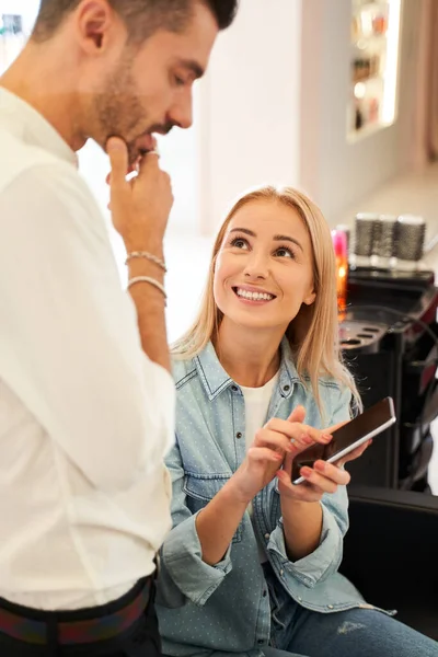
[[[245, 400], [245, 442], [246, 450], [254, 441], [255, 434], [266, 424], [266, 415], [269, 407], [270, 397], [275, 385], [278, 381], [279, 372], [277, 372], [267, 383], [261, 388], [244, 388], [240, 387]], [[253, 505], [249, 506], [250, 516], [253, 517]], [[257, 534], [255, 534], [257, 537]], [[262, 543], [258, 541], [258, 553], [261, 563], [267, 561]]]

